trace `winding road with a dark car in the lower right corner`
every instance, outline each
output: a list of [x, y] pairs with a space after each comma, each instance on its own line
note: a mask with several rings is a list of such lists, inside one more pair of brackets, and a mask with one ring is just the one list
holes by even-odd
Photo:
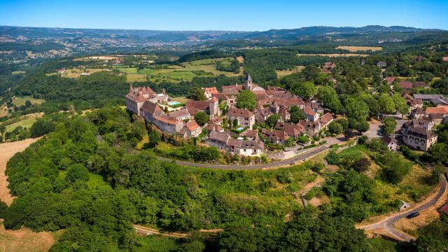
[[389, 232], [391, 235], [398, 237], [402, 241], [410, 241], [410, 240], [414, 239], [414, 237], [406, 234], [405, 232], [400, 232], [398, 230], [395, 230], [395, 228], [393, 228], [393, 224], [402, 218], [406, 218], [406, 216], [408, 214], [411, 214], [414, 212], [420, 212], [420, 211], [427, 209], [428, 207], [433, 206], [433, 204], [435, 204], [435, 202], [440, 200], [440, 198], [444, 195], [446, 190], [447, 190], [447, 178], [444, 175], [440, 175], [440, 190], [437, 192], [437, 194], [431, 200], [429, 200], [425, 204], [422, 204], [420, 207], [416, 207], [414, 209], [410, 209], [405, 212], [397, 213], [397, 214], [395, 214], [391, 217], [388, 217], [382, 221], [379, 221], [377, 223], [372, 223], [370, 225], [365, 225], [365, 226], [359, 227], [359, 228], [361, 228], [363, 230], [373, 230], [373, 229], [377, 229], [377, 228], [384, 228], [384, 230]]

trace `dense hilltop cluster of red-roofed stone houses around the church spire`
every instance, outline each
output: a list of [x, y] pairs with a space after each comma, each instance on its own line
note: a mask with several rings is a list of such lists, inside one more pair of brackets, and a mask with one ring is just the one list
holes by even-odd
[[[179, 107], [181, 104], [174, 102], [172, 97], [165, 94], [165, 90], [158, 94], [151, 87], [130, 85], [126, 94], [126, 108], [162, 132], [190, 138], [198, 137], [204, 131], [207, 132], [204, 142], [209, 146], [247, 156], [260, 155], [265, 151], [266, 143], [259, 135], [270, 144], [281, 145], [287, 139], [304, 134], [314, 137], [333, 120], [332, 114], [323, 104], [314, 100], [304, 102], [281, 87], [268, 86], [265, 89], [253, 83], [249, 74], [243, 84], [223, 86], [222, 92], [216, 87], [203, 87], [202, 90], [206, 101], [190, 100], [185, 106]], [[257, 103], [253, 111], [237, 108], [238, 94], [242, 90], [251, 91], [255, 95]], [[289, 123], [292, 106], [302, 109], [306, 118], [298, 123]], [[209, 115], [209, 123], [202, 127], [195, 122], [195, 115], [199, 112]], [[272, 115], [279, 115], [274, 129], [254, 130], [257, 123], [265, 125], [267, 118]]]

